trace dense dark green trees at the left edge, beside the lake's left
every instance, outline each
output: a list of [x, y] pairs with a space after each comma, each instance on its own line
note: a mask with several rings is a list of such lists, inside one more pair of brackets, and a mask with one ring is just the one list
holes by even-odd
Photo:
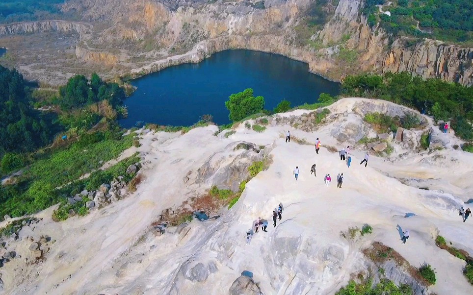
[[26, 152], [52, 139], [57, 129], [51, 116], [30, 106], [23, 75], [0, 66], [0, 158], [7, 152]]

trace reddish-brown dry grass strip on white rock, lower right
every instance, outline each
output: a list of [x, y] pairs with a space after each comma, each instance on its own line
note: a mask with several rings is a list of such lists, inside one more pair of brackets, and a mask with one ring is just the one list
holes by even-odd
[[403, 268], [415, 280], [424, 286], [429, 286], [430, 283], [420, 275], [419, 269], [413, 267], [401, 254], [396, 252], [393, 248], [384, 245], [380, 242], [374, 242], [371, 247], [364, 249], [363, 254], [371, 259], [376, 266], [380, 267], [386, 260], [394, 260], [398, 267]]

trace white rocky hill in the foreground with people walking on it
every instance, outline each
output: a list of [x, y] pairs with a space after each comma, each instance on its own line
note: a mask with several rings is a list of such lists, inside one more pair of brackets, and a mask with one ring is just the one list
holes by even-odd
[[[462, 222], [458, 216], [461, 206], [468, 207], [464, 202], [472, 201], [473, 154], [452, 148], [461, 141], [423, 116], [423, 130], [405, 130], [400, 142], [390, 135], [393, 153], [371, 152], [365, 167], [359, 163], [367, 149], [355, 144], [375, 131], [362, 115], [416, 112], [363, 98], [344, 98], [327, 108], [330, 115], [318, 125], [311, 122], [321, 110], [296, 110], [268, 118], [260, 133], [241, 123], [228, 138], [230, 130], [216, 133], [214, 125], [183, 135], [141, 132], [144, 180], [137, 191], [83, 218], [54, 222], [53, 208], [37, 214], [42, 220], [24, 226], [21, 239], [4, 242], [16, 257], [0, 268], [0, 294], [326, 295], [360, 272], [371, 271], [379, 280], [381, 267], [388, 279], [411, 285], [415, 294], [473, 294], [462, 273], [465, 262], [434, 241], [440, 234], [473, 254], [473, 219]], [[430, 128], [432, 142], [445, 148], [419, 151], [420, 134]], [[290, 143], [284, 139], [287, 130]], [[317, 137], [319, 154], [313, 145]], [[247, 144], [236, 148], [240, 143]], [[331, 151], [348, 145], [353, 147], [350, 168]], [[183, 202], [212, 185], [236, 191], [248, 166], [259, 160], [267, 169], [246, 184], [236, 204], [208, 212], [219, 218], [168, 226], [163, 234], [152, 225], [163, 211], [178, 214]], [[310, 173], [313, 164], [316, 177]], [[298, 181], [292, 175], [296, 166]], [[337, 188], [339, 173], [342, 188]], [[328, 187], [325, 174], [333, 180]], [[273, 227], [272, 210], [279, 202], [285, 210]], [[246, 245], [245, 233], [258, 217], [269, 221], [267, 232], [259, 231]], [[365, 223], [372, 234], [355, 239], [340, 234]], [[410, 230], [406, 244], [399, 227]], [[28, 258], [29, 237], [41, 235], [55, 242], [44, 259]], [[373, 242], [392, 247], [413, 267], [430, 264], [437, 283], [422, 286], [394, 261], [376, 265], [362, 252]]]

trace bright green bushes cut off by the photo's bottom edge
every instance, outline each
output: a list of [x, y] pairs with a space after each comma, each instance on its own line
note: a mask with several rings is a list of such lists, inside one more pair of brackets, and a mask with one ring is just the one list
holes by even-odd
[[412, 288], [405, 284], [397, 287], [393, 281], [388, 279], [382, 279], [375, 286], [370, 279], [361, 283], [351, 280], [335, 295], [412, 295]]

